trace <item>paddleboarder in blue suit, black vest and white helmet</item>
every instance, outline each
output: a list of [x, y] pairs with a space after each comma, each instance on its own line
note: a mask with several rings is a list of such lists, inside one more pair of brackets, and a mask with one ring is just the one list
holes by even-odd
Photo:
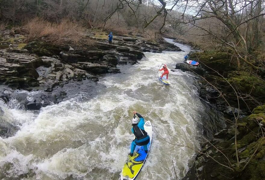
[[[133, 156], [133, 152], [135, 150], [136, 145], [138, 146], [144, 146], [145, 153], [148, 153], [147, 144], [150, 141], [149, 136], [147, 135], [147, 132], [145, 132], [144, 125], [145, 125], [145, 119], [136, 111], [133, 111], [133, 120], [132, 120], [132, 132], [135, 135], [135, 139], [133, 140], [131, 144], [131, 153], [129, 156]], [[135, 116], [135, 114], [139, 117]]]

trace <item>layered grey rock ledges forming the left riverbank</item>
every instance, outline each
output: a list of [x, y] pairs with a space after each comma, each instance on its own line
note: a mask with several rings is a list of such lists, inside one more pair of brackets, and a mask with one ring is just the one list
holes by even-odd
[[93, 31], [86, 33], [84, 43], [80, 44], [52, 44], [45, 38], [26, 44], [26, 35], [8, 29], [2, 31], [0, 83], [5, 86], [1, 87], [0, 98], [8, 103], [14, 89], [42, 92], [24, 103], [23, 108], [37, 110], [71, 95], [67, 84], [75, 83], [79, 88], [86, 84], [92, 90], [99, 75], [120, 73], [118, 64], [135, 64], [144, 57], [143, 52], [181, 51], [163, 39], [148, 41], [141, 34], [114, 34], [109, 45], [107, 36], [96, 37]]

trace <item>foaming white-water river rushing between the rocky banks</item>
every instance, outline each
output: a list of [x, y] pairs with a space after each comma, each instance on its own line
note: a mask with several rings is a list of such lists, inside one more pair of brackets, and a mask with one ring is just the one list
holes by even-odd
[[138, 179], [176, 179], [174, 167], [177, 178], [183, 177], [195, 151], [172, 144], [199, 147], [202, 129], [197, 125], [204, 106], [190, 73], [170, 71], [170, 86], [154, 76], [162, 63], [174, 69], [183, 61], [190, 49], [176, 45], [186, 52], [147, 52], [139, 64], [121, 65], [121, 73], [102, 76], [93, 98], [79, 92], [39, 111], [1, 102], [2, 122], [19, 130], [0, 138], [0, 178], [118, 179], [133, 138], [133, 110], [154, 127], [150, 154]]

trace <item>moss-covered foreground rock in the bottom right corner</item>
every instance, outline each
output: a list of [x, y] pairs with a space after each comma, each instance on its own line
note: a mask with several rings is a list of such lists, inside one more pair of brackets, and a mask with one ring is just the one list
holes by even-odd
[[[199, 179], [265, 179], [265, 139], [260, 136], [261, 129], [259, 126], [259, 121], [265, 118], [265, 113], [261, 111], [262, 107], [257, 107], [253, 111], [257, 114], [246, 116], [237, 123], [238, 131], [240, 132], [237, 136], [237, 148], [240, 161], [239, 167], [237, 167], [236, 163], [235, 138], [224, 140], [216, 144], [215, 147], [222, 151], [229, 159], [232, 163], [230, 167], [232, 167], [234, 171], [224, 168], [214, 160], [203, 155], [201, 157], [203, 161], [199, 161], [199, 166], [204, 166], [199, 173]], [[259, 119], [258, 122], [257, 119]], [[213, 152], [210, 154], [211, 157], [219, 163], [227, 165], [226, 157], [219, 151], [216, 151], [215, 147], [208, 147], [207, 152]], [[250, 160], [248, 165], [243, 169], [248, 160]]]

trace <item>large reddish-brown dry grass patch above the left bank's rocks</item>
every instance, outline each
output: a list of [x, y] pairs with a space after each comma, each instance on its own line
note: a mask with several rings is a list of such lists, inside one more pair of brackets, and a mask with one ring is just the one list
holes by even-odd
[[77, 43], [85, 36], [84, 27], [67, 19], [57, 24], [34, 18], [25, 26], [25, 30], [28, 34], [26, 42], [45, 38], [52, 43]]

